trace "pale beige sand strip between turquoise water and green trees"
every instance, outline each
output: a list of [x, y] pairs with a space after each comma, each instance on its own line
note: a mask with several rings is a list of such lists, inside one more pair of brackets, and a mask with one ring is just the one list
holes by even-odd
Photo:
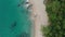
[[43, 37], [41, 33], [41, 25], [48, 25], [48, 15], [43, 0], [29, 0], [32, 4], [31, 18], [34, 21], [32, 37]]

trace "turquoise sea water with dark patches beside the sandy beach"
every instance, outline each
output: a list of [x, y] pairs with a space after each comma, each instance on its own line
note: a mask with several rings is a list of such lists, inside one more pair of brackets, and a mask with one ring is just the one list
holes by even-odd
[[0, 37], [30, 37], [31, 23], [24, 1], [0, 0]]

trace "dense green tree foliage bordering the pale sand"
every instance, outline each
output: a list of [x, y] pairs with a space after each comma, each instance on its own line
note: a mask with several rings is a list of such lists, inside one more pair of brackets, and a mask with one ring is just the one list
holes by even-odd
[[50, 25], [42, 27], [46, 37], [65, 37], [65, 0], [46, 0]]

